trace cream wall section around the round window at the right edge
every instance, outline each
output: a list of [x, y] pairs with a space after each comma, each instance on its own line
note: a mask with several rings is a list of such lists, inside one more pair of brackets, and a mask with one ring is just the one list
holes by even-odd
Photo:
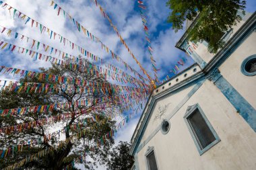
[[253, 32], [220, 66], [223, 77], [256, 109], [256, 76], [241, 72], [245, 58], [256, 54], [256, 32]]

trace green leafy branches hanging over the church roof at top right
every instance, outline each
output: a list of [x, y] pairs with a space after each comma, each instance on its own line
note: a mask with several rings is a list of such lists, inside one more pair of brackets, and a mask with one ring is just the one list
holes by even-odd
[[[220, 40], [222, 32], [241, 21], [238, 10], [245, 15], [245, 1], [241, 0], [168, 0], [166, 5], [172, 10], [168, 16], [168, 22], [172, 23], [172, 29], [177, 32], [183, 29], [183, 23], [188, 19], [196, 20], [195, 26], [189, 30], [189, 40], [201, 42], [207, 40], [208, 50], [216, 53], [224, 42]], [[197, 14], [199, 14], [197, 16]]]

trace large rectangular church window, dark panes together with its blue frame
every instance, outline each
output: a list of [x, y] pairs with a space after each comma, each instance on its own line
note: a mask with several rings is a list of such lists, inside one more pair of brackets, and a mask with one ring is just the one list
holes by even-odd
[[220, 142], [220, 138], [209, 120], [207, 120], [198, 103], [189, 106], [184, 119], [195, 142], [195, 146], [197, 146], [199, 155], [202, 155], [212, 148], [212, 146]]

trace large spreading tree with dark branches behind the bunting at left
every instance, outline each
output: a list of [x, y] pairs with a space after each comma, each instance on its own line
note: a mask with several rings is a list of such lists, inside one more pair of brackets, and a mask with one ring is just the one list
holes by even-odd
[[[46, 148], [57, 146], [58, 142], [64, 141], [70, 136], [82, 132], [82, 130], [87, 131], [82, 133], [78, 140], [65, 140], [65, 144], [61, 147], [55, 147], [51, 153], [40, 159], [31, 159], [20, 168], [63, 169], [70, 165], [74, 159], [84, 155], [91, 159], [79, 159], [79, 163], [84, 164], [88, 169], [96, 163], [106, 163], [108, 151], [113, 146], [114, 140], [109, 135], [108, 138], [102, 138], [102, 136], [106, 136], [114, 129], [115, 121], [111, 120], [110, 116], [122, 108], [119, 105], [119, 100], [115, 97], [118, 92], [113, 91], [110, 83], [105, 81], [97, 71], [93, 71], [94, 74], [88, 71], [87, 68], [91, 66], [86, 60], [84, 66], [80, 66], [79, 69], [71, 68], [69, 65], [66, 67], [53, 65], [50, 69], [41, 68], [40, 71], [46, 75], [52, 74], [78, 80], [57, 83], [52, 91], [50, 89], [53, 86], [49, 88], [49, 91], [43, 90], [42, 86], [38, 89], [34, 86], [34, 83], [49, 83], [42, 77], [25, 77], [20, 79], [17, 88], [23, 87], [26, 90], [16, 91], [12, 89], [13, 85], [9, 85], [0, 92], [0, 109], [26, 108], [51, 103], [70, 104], [67, 107], [58, 106], [49, 112], [40, 113], [35, 109], [36, 112], [34, 112], [35, 110], [27, 110], [26, 114], [8, 113], [7, 116], [0, 116], [0, 129], [6, 130], [0, 133], [0, 150], [24, 142], [28, 143], [28, 141], [37, 141], [36, 144], [24, 145], [23, 151], [8, 154], [3, 159], [0, 155], [0, 169], [18, 163], [25, 157], [30, 157]], [[83, 89], [82, 80], [92, 83], [92, 87], [87, 85]], [[30, 82], [27, 87], [24, 86], [26, 82]], [[86, 105], [77, 105], [82, 100], [86, 101], [84, 102]], [[54, 119], [50, 122], [46, 120], [53, 116]], [[33, 123], [31, 124], [31, 122]], [[21, 124], [24, 126], [20, 126]], [[8, 127], [11, 127], [12, 130], [13, 127], [14, 129], [22, 128], [11, 132], [11, 128]], [[59, 130], [62, 130], [63, 134], [60, 134]], [[55, 131], [54, 134], [51, 133], [53, 131]]]

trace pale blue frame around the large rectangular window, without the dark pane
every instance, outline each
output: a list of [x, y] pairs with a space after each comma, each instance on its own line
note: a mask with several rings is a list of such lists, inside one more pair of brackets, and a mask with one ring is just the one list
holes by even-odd
[[[201, 113], [201, 116], [203, 116], [203, 119], [205, 120], [207, 126], [210, 128], [212, 134], [214, 134], [215, 140], [214, 142], [208, 144], [205, 148], [201, 149], [197, 140], [196, 140], [196, 136], [195, 134], [192, 132], [191, 126], [189, 125], [189, 122], [187, 121], [187, 118], [193, 114], [193, 112], [198, 109], [199, 112]], [[201, 107], [199, 106], [199, 104], [195, 104], [193, 105], [193, 107], [186, 112], [185, 116], [183, 117], [185, 120], [185, 123], [187, 125], [187, 128], [189, 128], [189, 132], [195, 142], [195, 146], [197, 146], [197, 151], [199, 152], [199, 155], [203, 155], [203, 153], [205, 153], [206, 151], [208, 151], [210, 148], [212, 148], [215, 144], [217, 144], [218, 142], [220, 142], [220, 138], [218, 136], [218, 134], [216, 133], [216, 131], [214, 130], [214, 128], [212, 127], [212, 124], [210, 124], [209, 120], [207, 119], [207, 117], [205, 116], [205, 114], [203, 113], [203, 110], [201, 109]]]

